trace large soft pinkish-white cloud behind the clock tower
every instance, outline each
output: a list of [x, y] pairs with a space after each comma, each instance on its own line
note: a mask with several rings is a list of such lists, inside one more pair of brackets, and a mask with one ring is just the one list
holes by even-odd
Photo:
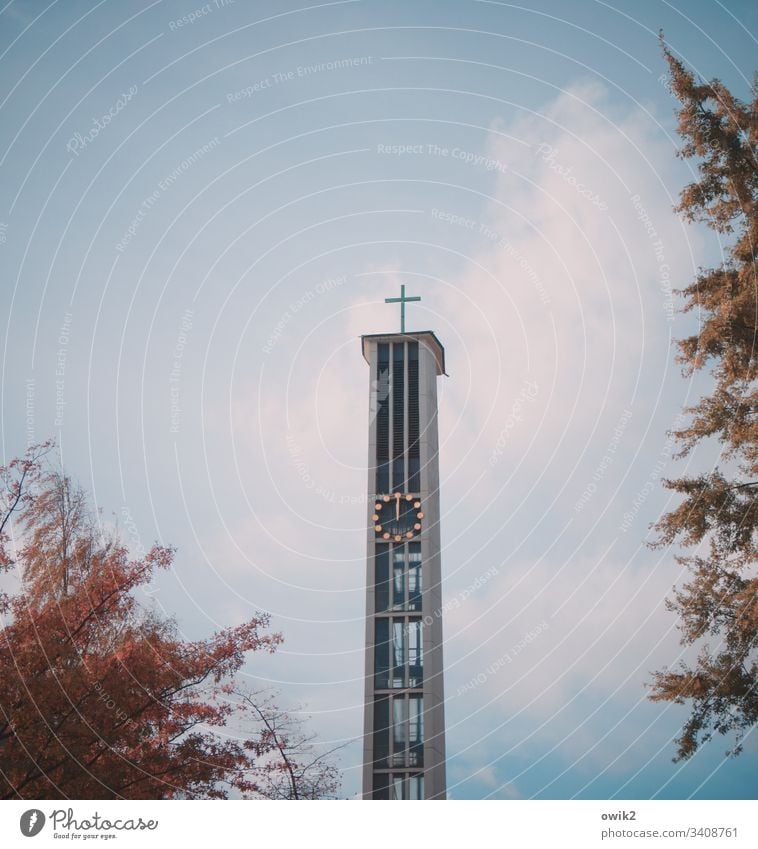
[[[451, 373], [439, 382], [443, 504], [451, 514], [446, 598], [500, 564], [496, 580], [445, 616], [449, 739], [476, 757], [488, 731], [517, 721], [579, 757], [599, 727], [583, 724], [587, 704], [606, 700], [614, 706], [608, 717], [630, 712], [614, 735], [613, 751], [623, 750], [648, 715], [638, 709], [648, 672], [677, 652], [663, 606], [674, 570], [644, 550], [628, 561], [602, 557], [612, 548], [607, 524], [588, 521], [578, 536], [570, 527], [571, 505], [632, 408], [613, 477], [619, 503], [634, 495], [624, 476], [670, 358], [662, 266], [677, 269], [674, 285], [692, 267], [665, 188], [671, 149], [641, 110], [609, 121], [613, 111], [602, 87], [584, 85], [508, 126], [530, 148], [493, 133], [488, 153], [507, 170], [492, 172], [474, 228], [439, 222], [440, 244], [459, 261], [434, 282], [414, 322], [436, 318]], [[455, 203], [453, 196], [451, 211]], [[640, 205], [655, 238], [639, 220]], [[242, 465], [257, 470], [256, 482], [239, 485], [254, 509], [237, 511], [211, 546], [217, 563], [243, 564], [239, 553], [247, 552], [261, 565], [257, 574], [229, 574], [252, 582], [283, 623], [281, 676], [302, 682], [307, 670], [309, 680], [342, 680], [356, 712], [368, 408], [358, 337], [388, 329], [388, 313], [376, 309], [380, 299], [367, 302], [366, 287], [373, 291], [374, 274], [382, 292], [409, 279], [431, 286], [393, 265], [366, 271], [345, 290], [350, 308], [328, 319], [328, 329], [280, 339], [262, 382], [255, 374], [235, 386], [235, 447]], [[678, 400], [666, 403], [674, 409]], [[504, 520], [504, 496], [517, 520]], [[518, 514], [527, 499], [537, 506]], [[600, 498], [593, 506], [610, 507]], [[529, 558], [511, 556], [521, 546]], [[312, 622], [319, 611], [329, 611], [323, 627]], [[462, 731], [456, 723], [464, 718]], [[609, 751], [592, 756], [603, 764]]]

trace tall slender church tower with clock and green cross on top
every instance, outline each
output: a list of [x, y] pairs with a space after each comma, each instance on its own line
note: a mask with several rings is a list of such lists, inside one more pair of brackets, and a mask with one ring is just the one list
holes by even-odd
[[444, 799], [437, 378], [431, 331], [363, 336], [370, 367], [364, 799]]

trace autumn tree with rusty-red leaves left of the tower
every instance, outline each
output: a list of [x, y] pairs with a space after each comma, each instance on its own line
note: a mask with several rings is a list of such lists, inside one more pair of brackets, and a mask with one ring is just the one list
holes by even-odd
[[21, 576], [0, 593], [0, 798], [267, 797], [279, 750], [235, 738], [255, 702], [233, 693], [246, 655], [281, 636], [258, 615], [187, 641], [143, 610], [133, 591], [172, 567], [173, 549], [130, 559], [85, 493], [42, 468], [46, 448], [0, 468], [0, 568]]

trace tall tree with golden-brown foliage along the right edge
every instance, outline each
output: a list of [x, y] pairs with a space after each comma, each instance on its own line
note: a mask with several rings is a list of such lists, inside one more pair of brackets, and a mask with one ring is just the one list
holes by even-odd
[[664, 482], [681, 502], [656, 524], [653, 543], [689, 549], [677, 558], [688, 581], [668, 607], [679, 615], [682, 643], [698, 648], [697, 659], [656, 672], [650, 694], [690, 705], [677, 739], [681, 760], [714, 733], [734, 735], [730, 754], [737, 754], [758, 722], [758, 86], [743, 103], [718, 80], [696, 81], [665, 44], [663, 52], [681, 104], [679, 155], [698, 161], [698, 179], [682, 191], [676, 211], [730, 242], [723, 263], [700, 269], [680, 292], [683, 311], [697, 311], [700, 328], [679, 341], [678, 360], [685, 376], [710, 368], [713, 387], [673, 432], [678, 457], [719, 442], [723, 467]]

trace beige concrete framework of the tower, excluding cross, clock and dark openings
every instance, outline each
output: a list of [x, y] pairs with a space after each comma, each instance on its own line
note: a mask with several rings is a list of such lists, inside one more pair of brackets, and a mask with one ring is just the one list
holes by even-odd
[[[416, 333], [396, 333], [386, 335], [372, 335], [362, 337], [363, 355], [370, 366], [370, 397], [369, 409], [371, 411], [369, 423], [369, 451], [368, 451], [368, 504], [367, 504], [367, 538], [366, 538], [366, 678], [365, 678], [365, 709], [364, 709], [364, 758], [363, 758], [363, 798], [424, 798], [444, 799], [446, 798], [445, 778], [445, 712], [444, 712], [444, 684], [443, 684], [443, 652], [442, 652], [442, 591], [441, 591], [441, 546], [440, 546], [440, 506], [439, 506], [439, 437], [437, 428], [437, 378], [445, 373], [445, 354], [439, 340], [431, 331]], [[409, 350], [410, 346], [418, 346], [418, 454], [419, 475], [416, 482], [420, 484], [410, 492], [414, 498], [419, 498], [421, 511], [424, 518], [420, 520], [421, 530], [413, 536], [411, 545], [409, 541], [396, 543], [390, 540], [384, 543], [381, 534], [375, 530], [375, 522], [372, 519], [376, 515], [375, 505], [382, 503], [381, 498], [387, 494], [394, 497], [396, 490], [394, 486], [389, 487], [387, 493], [378, 492], [377, 486], [377, 422], [379, 416], [377, 411], [382, 403], [385, 393], [388, 396], [390, 411], [389, 437], [392, 444], [392, 452], [396, 453], [394, 444], [397, 436], [392, 433], [391, 418], [394, 414], [394, 392], [392, 378], [389, 387], [378, 379], [378, 351], [380, 345], [388, 345], [390, 351], [390, 362], [393, 368], [395, 346], [402, 346], [405, 356], [404, 363], [404, 402], [403, 402], [403, 450], [409, 452]], [[385, 349], [386, 350], [386, 349]], [[394, 371], [391, 372], [394, 378]], [[408, 455], [410, 456], [410, 455]], [[409, 460], [406, 459], [406, 483], [413, 480], [408, 473]], [[393, 478], [394, 483], [394, 478]], [[390, 493], [389, 490], [392, 492]], [[405, 497], [406, 493], [403, 492]], [[377, 498], [380, 499], [377, 502]], [[415, 502], [414, 502], [415, 504]], [[389, 507], [391, 508], [390, 503]], [[385, 510], [386, 513], [386, 510]], [[408, 569], [411, 568], [412, 557], [408, 554], [411, 550], [413, 556], [418, 556], [418, 547], [421, 551], [421, 609], [418, 609], [418, 599], [414, 602], [415, 607], [386, 606], [384, 601], [377, 604], [377, 550], [388, 552], [385, 558], [389, 558], [390, 570], [396, 560], [405, 557]], [[385, 567], [386, 568], [386, 567]], [[397, 574], [397, 573], [392, 573]], [[411, 578], [399, 577], [396, 580], [410, 581]], [[394, 587], [394, 585], [393, 585]], [[385, 590], [380, 590], [386, 593]], [[409, 590], [406, 589], [405, 598], [409, 599]], [[395, 589], [392, 590], [393, 601], [395, 600]], [[382, 599], [384, 595], [382, 595]], [[377, 625], [377, 620], [390, 620], [384, 626]], [[376, 658], [378, 627], [385, 630], [399, 628], [405, 630], [406, 641], [410, 642], [408, 634], [411, 629], [420, 627], [421, 631], [421, 654], [422, 675], [421, 681], [418, 677], [411, 675], [409, 664], [412, 663], [410, 651], [407, 646], [402, 649], [406, 657], [405, 678], [390, 676], [384, 681], [381, 670], [377, 677]], [[414, 634], [416, 631], [414, 630]], [[400, 630], [393, 632], [395, 639], [390, 646], [387, 644], [387, 652], [396, 657], [398, 646], [403, 643]], [[414, 649], [415, 651], [415, 649]], [[381, 652], [381, 649], [380, 649]], [[388, 655], [388, 656], [389, 656]], [[382, 655], [384, 656], [384, 655]], [[417, 669], [418, 667], [412, 667]], [[396, 673], [397, 674], [397, 673]], [[419, 700], [422, 704], [422, 725], [416, 720], [413, 724], [413, 712], [418, 712]], [[398, 704], [396, 704], [398, 702]], [[401, 728], [401, 723], [396, 720], [399, 716], [405, 716], [410, 709], [411, 719], [407, 728]], [[380, 714], [389, 712], [389, 720], [382, 719]], [[405, 711], [405, 714], [403, 714]], [[385, 727], [387, 723], [387, 727]], [[422, 728], [422, 731], [421, 731]], [[386, 733], [385, 733], [386, 732]], [[414, 736], [415, 735], [415, 736]], [[412, 745], [418, 736], [423, 737], [423, 756], [421, 746]], [[385, 743], [386, 740], [390, 741]], [[405, 749], [396, 748], [398, 740], [405, 740]], [[411, 742], [407, 742], [410, 740]], [[385, 751], [386, 746], [389, 749]], [[389, 755], [387, 754], [389, 752]], [[421, 763], [419, 763], [421, 761]], [[423, 777], [421, 777], [423, 776]]]

